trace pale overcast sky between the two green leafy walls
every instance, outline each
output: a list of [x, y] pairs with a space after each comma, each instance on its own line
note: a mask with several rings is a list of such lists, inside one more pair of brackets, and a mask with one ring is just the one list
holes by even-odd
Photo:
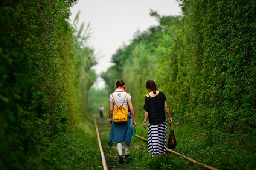
[[[98, 64], [93, 66], [97, 75], [112, 66], [111, 57], [123, 44], [129, 44], [137, 30], [144, 31], [157, 25], [150, 9], [160, 15], [181, 15], [177, 0], [79, 0], [71, 8], [73, 23], [80, 10], [78, 28], [82, 22], [90, 23], [88, 45], [94, 49]], [[94, 88], [104, 88], [105, 82], [98, 76]]]

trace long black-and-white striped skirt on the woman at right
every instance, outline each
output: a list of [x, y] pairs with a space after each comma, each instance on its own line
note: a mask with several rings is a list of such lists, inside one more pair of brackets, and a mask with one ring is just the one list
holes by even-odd
[[148, 152], [154, 155], [166, 152], [167, 122], [158, 125], [148, 124]]

